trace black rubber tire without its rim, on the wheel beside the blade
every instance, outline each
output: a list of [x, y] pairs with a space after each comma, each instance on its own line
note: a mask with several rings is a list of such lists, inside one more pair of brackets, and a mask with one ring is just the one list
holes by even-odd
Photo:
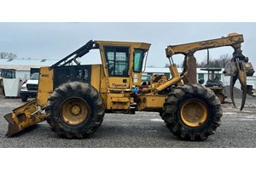
[[[61, 105], [72, 98], [83, 99], [89, 108], [88, 117], [77, 126], [69, 125], [61, 119]], [[48, 114], [47, 122], [59, 136], [67, 139], [84, 139], [101, 126], [105, 106], [102, 96], [90, 84], [68, 82], [56, 88], [50, 95], [45, 111]]]

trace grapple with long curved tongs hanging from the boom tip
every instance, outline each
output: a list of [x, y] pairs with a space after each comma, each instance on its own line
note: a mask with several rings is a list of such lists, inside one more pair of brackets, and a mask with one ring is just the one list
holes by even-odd
[[236, 80], [238, 79], [241, 84], [241, 107], [240, 111], [243, 109], [246, 97], [247, 97], [247, 77], [252, 77], [254, 73], [253, 65], [248, 62], [248, 58], [241, 54], [241, 48], [235, 48], [233, 57], [229, 63], [225, 65], [224, 75], [230, 76], [230, 98], [232, 104], [236, 107], [234, 100], [234, 86]]

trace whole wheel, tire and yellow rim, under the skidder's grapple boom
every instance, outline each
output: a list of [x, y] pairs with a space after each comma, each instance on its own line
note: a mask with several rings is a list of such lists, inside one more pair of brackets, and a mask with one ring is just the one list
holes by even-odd
[[166, 97], [162, 119], [178, 138], [204, 140], [215, 133], [221, 116], [219, 99], [211, 89], [185, 84]]

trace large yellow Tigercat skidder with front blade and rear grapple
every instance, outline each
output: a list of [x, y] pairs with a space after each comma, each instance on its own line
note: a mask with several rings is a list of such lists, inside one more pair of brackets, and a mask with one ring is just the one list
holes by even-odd
[[[141, 87], [143, 63], [149, 43], [90, 41], [55, 65], [40, 69], [38, 96], [7, 114], [6, 134], [11, 136], [46, 120], [55, 133], [67, 139], [84, 139], [96, 132], [104, 114], [135, 111], [159, 112], [166, 126], [180, 139], [203, 140], [220, 124], [222, 108], [211, 89], [196, 84], [195, 49], [231, 46], [235, 52], [226, 74], [232, 85], [238, 78], [243, 91], [246, 73], [253, 69], [241, 54], [242, 35], [168, 46], [171, 79], [152, 77]], [[100, 50], [102, 65], [80, 65], [79, 58], [90, 49]], [[177, 71], [173, 54], [184, 54], [183, 72]], [[73, 65], [72, 65], [73, 63]], [[245, 102], [243, 95], [242, 106]], [[45, 112], [44, 112], [45, 111]]]

